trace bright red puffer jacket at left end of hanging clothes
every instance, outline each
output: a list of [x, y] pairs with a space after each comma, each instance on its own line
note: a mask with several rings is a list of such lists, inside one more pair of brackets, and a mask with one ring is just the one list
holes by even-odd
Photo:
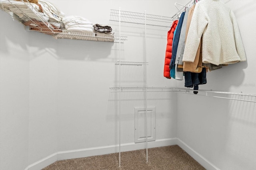
[[177, 24], [178, 24], [178, 20], [173, 21], [171, 29], [168, 31], [168, 34], [167, 34], [167, 47], [166, 47], [165, 60], [164, 60], [164, 77], [166, 78], [171, 78], [169, 65], [172, 59], [172, 39], [173, 39], [173, 34]]

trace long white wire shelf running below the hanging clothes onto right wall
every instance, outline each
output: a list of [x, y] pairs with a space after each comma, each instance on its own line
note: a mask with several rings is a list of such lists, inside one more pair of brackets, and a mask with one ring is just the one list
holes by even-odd
[[[110, 92], [180, 92], [184, 94], [193, 94], [196, 96], [207, 96], [213, 98], [222, 98], [229, 100], [239, 100], [244, 102], [256, 103], [256, 94], [244, 94], [235, 92], [221, 92], [213, 90], [193, 90], [190, 88], [175, 87], [111, 87]], [[193, 92], [198, 92], [194, 94]]]

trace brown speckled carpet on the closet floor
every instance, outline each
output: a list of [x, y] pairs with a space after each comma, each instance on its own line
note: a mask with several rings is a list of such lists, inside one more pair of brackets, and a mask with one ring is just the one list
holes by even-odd
[[43, 170], [205, 170], [178, 145], [56, 161]]

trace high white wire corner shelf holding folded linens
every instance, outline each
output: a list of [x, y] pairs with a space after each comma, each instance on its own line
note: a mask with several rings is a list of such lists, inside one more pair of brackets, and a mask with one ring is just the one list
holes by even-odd
[[124, 43], [127, 40], [125, 36], [85, 33], [80, 31], [67, 31], [65, 29], [57, 29], [52, 26], [42, 16], [41, 12], [36, 10], [36, 4], [24, 2], [24, 0], [0, 0], [0, 9], [9, 14], [14, 20], [26, 26], [26, 30], [38, 31], [48, 35], [52, 35], [55, 39], [77, 39], [90, 41], [107, 41]]

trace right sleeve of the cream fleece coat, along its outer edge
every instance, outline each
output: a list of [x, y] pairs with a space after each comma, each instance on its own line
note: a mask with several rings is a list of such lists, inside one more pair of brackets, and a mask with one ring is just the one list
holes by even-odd
[[234, 15], [234, 12], [230, 11], [230, 19], [233, 24], [233, 29], [234, 29], [234, 39], [235, 39], [235, 44], [236, 44], [236, 52], [238, 56], [240, 57], [240, 61], [246, 61], [246, 55], [244, 51], [244, 45], [242, 42], [242, 38], [240, 35], [240, 31], [238, 28], [238, 23], [236, 21], [236, 17]]

